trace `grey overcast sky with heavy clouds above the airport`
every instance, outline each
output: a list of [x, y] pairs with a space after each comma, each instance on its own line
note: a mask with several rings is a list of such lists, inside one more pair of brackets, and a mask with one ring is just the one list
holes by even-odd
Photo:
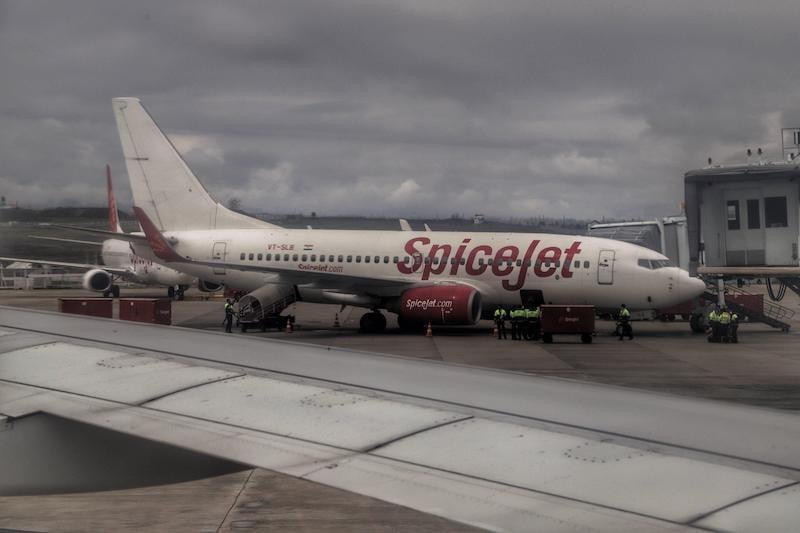
[[797, 0], [4, 2], [0, 194], [130, 204], [138, 96], [220, 201], [388, 216], [674, 214], [800, 125]]

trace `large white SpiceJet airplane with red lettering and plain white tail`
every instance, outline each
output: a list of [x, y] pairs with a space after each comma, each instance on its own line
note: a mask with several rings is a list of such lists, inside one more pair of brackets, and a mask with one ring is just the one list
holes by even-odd
[[[380, 310], [401, 327], [474, 324], [497, 305], [533, 301], [654, 309], [700, 295], [705, 285], [636, 245], [584, 236], [290, 230], [226, 209], [203, 188], [137, 98], [113, 107], [134, 211], [159, 260], [251, 291], [247, 312], [280, 312], [295, 298]], [[134, 247], [140, 246], [133, 243]]]

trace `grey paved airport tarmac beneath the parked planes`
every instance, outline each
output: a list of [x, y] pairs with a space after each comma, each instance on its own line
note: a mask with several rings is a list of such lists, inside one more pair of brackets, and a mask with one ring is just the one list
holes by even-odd
[[[125, 289], [123, 297], [162, 296], [153, 289]], [[2, 291], [0, 304], [58, 310], [59, 297], [94, 296], [79, 290]], [[194, 290], [173, 302], [173, 324], [223, 331], [223, 300]], [[292, 333], [238, 329], [230, 335], [279, 337], [326, 346], [436, 359], [572, 380], [800, 409], [800, 299], [781, 305], [798, 311], [792, 330], [763, 324], [740, 326], [738, 344], [712, 344], [686, 322], [634, 323], [634, 339], [619, 341], [614, 324], [598, 321], [591, 344], [556, 336], [553, 344], [498, 341], [489, 322], [475, 327], [434, 327], [404, 333], [393, 315], [382, 334], [358, 333], [362, 309], [297, 303]], [[339, 327], [335, 327], [338, 313]], [[296, 480], [265, 470], [247, 470], [189, 483], [104, 493], [0, 498], [0, 529], [26, 531], [472, 531], [371, 498]]]

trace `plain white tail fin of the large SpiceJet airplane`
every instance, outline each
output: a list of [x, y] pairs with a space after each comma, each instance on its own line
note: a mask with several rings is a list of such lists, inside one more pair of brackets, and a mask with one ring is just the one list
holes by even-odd
[[138, 98], [114, 98], [134, 206], [159, 231], [275, 228], [214, 200]]

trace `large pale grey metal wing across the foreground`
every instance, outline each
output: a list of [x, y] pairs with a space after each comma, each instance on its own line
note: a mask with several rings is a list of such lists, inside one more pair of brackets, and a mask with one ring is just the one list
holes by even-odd
[[800, 418], [776, 410], [8, 307], [0, 369], [0, 443], [46, 413], [490, 530], [800, 519]]

